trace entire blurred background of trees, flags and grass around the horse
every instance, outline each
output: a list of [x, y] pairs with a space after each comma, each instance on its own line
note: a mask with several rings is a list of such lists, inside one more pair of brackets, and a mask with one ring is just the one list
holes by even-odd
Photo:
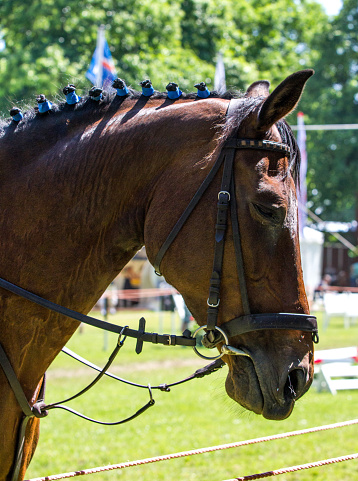
[[[150, 78], [159, 91], [170, 81], [184, 92], [194, 91], [200, 81], [211, 90], [225, 82], [227, 89], [245, 91], [260, 79], [268, 79], [273, 89], [297, 70], [315, 70], [299, 104], [301, 113], [296, 111], [287, 120], [302, 151], [301, 248], [311, 306], [322, 328], [321, 343], [316, 352], [316, 389], [280, 424], [282, 431], [349, 419], [357, 412], [357, 32], [357, 0], [0, 0], [2, 119], [9, 118], [14, 105], [23, 110], [34, 107], [38, 94], [63, 101], [62, 88], [68, 83], [74, 83], [81, 96], [95, 83], [107, 88], [117, 76], [137, 90], [140, 81]], [[112, 283], [96, 310], [111, 322], [134, 322], [133, 327], [145, 315], [149, 328], [160, 332], [180, 332], [194, 324], [181, 297], [154, 275], [144, 250]], [[116, 339], [94, 331], [82, 328], [69, 345], [103, 365]], [[127, 344], [131, 346], [130, 340]], [[74, 390], [74, 384], [87, 382], [90, 375], [64, 357], [59, 356], [49, 372], [52, 400]], [[191, 350], [168, 352], [158, 346], [146, 347], [140, 361], [132, 346], [121, 352], [113, 368], [135, 381], [155, 383], [181, 379], [198, 362]], [[66, 413], [49, 416], [42, 423], [29, 476], [276, 432], [275, 423], [243, 413], [228, 400], [224, 376], [218, 373], [211, 381], [174, 389], [168, 398], [158, 395], [160, 409], [120, 433], [88, 427]], [[334, 378], [341, 384], [334, 384]], [[337, 390], [339, 409], [332, 396]], [[133, 393], [118, 394], [107, 384], [89, 396], [83, 405], [78, 401], [79, 410], [90, 407], [94, 417], [106, 420], [126, 416], [130, 408], [142, 405]], [[215, 429], [203, 428], [205, 413], [202, 408], [198, 413], [199, 400], [202, 406], [210, 405], [212, 419], [219, 420]], [[198, 429], [188, 429], [189, 423]], [[310, 439], [289, 448], [247, 448], [242, 456], [221, 454], [210, 464], [210, 473], [207, 458], [202, 458], [190, 464], [178, 460], [170, 469], [148, 467], [140, 475], [126, 473], [126, 479], [211, 481], [345, 454], [340, 447], [356, 450], [353, 429]], [[327, 473], [332, 479], [355, 479], [356, 464], [293, 474], [289, 479], [324, 481]]]

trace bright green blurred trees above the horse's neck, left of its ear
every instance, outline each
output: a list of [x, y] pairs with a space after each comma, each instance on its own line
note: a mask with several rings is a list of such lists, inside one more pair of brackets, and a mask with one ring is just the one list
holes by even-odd
[[150, 77], [159, 90], [171, 80], [192, 91], [212, 81], [219, 50], [229, 87], [260, 78], [278, 83], [312, 66], [312, 40], [326, 22], [308, 0], [3, 0], [0, 110], [7, 115], [13, 102], [56, 95], [68, 82], [87, 88], [101, 24], [128, 84], [139, 88]]

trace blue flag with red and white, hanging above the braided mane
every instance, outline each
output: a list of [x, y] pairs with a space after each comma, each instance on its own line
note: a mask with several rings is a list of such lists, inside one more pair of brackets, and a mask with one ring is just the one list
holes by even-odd
[[97, 46], [89, 69], [86, 72], [86, 77], [96, 87], [106, 87], [107, 84], [117, 78], [112, 54], [104, 35], [103, 26], [98, 29]]

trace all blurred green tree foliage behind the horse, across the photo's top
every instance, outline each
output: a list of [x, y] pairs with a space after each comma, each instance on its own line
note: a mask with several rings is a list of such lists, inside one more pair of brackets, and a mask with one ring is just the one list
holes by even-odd
[[[84, 92], [99, 25], [106, 26], [117, 73], [139, 88], [151, 78], [193, 91], [212, 86], [217, 53], [227, 86], [313, 67], [300, 104], [310, 124], [355, 123], [358, 108], [358, 5], [344, 0], [332, 19], [314, 0], [3, 0], [0, 2], [0, 111], [57, 97], [73, 82]], [[289, 118], [296, 123], [294, 115]], [[356, 132], [308, 132], [308, 197], [325, 218], [351, 220], [356, 202]]]

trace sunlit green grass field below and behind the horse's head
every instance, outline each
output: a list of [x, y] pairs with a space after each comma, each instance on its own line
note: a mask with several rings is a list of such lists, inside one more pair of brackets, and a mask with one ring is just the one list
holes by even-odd
[[[94, 313], [98, 315], [98, 313]], [[111, 322], [136, 327], [144, 315], [148, 331], [157, 331], [158, 314], [122, 311]], [[99, 315], [98, 315], [99, 317]], [[319, 322], [321, 323], [320, 319]], [[170, 332], [166, 314], [166, 332]], [[109, 346], [116, 336], [109, 334]], [[110, 350], [103, 350], [104, 334], [86, 326], [77, 332], [68, 347], [92, 362], [104, 365]], [[343, 320], [333, 318], [326, 332], [320, 333], [319, 349], [358, 344], [358, 325], [343, 328]], [[134, 340], [127, 339], [111, 371], [134, 382], [151, 385], [173, 382], [194, 372], [205, 362], [190, 348], [144, 345], [134, 352]], [[224, 389], [226, 368], [211, 376], [172, 388], [170, 393], [154, 391], [155, 406], [130, 423], [98, 426], [62, 410], [50, 412], [41, 421], [41, 438], [27, 479], [122, 463], [206, 446], [232, 443], [358, 418], [358, 391], [332, 396], [312, 387], [297, 402], [293, 414], [284, 421], [262, 419], [231, 401]], [[93, 377], [84, 366], [61, 354], [48, 372], [48, 403], [64, 399], [85, 386]], [[74, 409], [105, 421], [116, 421], [133, 414], [148, 401], [146, 389], [128, 387], [103, 379], [83, 398], [71, 403]], [[323, 433], [306, 434], [221, 452], [164, 461], [146, 466], [93, 474], [81, 479], [93, 481], [222, 481], [284, 466], [358, 452], [357, 426]], [[280, 475], [280, 481], [354, 481], [358, 461]]]

